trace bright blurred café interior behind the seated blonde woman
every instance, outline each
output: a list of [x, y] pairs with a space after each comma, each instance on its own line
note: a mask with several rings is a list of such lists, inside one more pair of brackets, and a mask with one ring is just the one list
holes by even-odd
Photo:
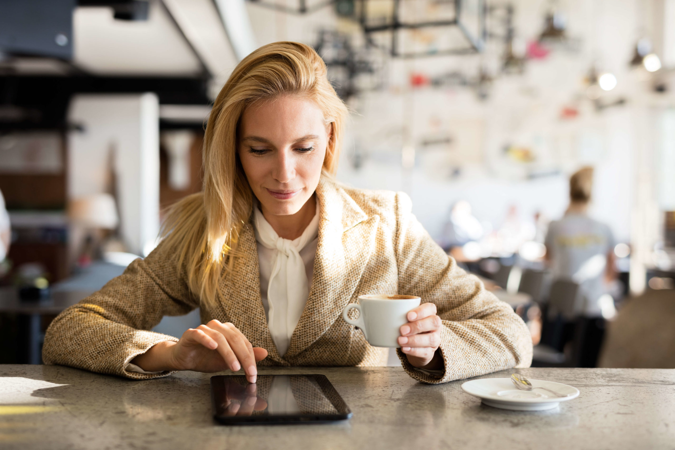
[[[541, 348], [547, 223], [594, 167], [590, 215], [617, 244], [605, 325], [670, 348], [626, 364], [675, 367], [675, 0], [0, 1], [2, 302], [72, 303], [148, 254], [200, 190], [209, 105], [278, 40], [315, 47], [352, 111], [338, 179], [409, 194], [466, 269], [529, 295]], [[1, 362], [39, 362], [54, 314], [3, 308]], [[631, 351], [620, 334], [605, 353]]]

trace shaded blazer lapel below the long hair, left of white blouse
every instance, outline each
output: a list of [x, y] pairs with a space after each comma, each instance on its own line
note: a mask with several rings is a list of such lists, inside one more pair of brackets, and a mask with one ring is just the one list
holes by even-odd
[[267, 358], [288, 365], [277, 351], [267, 328], [265, 309], [260, 293], [260, 268], [255, 232], [250, 223], [244, 225], [240, 234], [238, 257], [234, 258], [231, 276], [224, 277], [220, 285], [223, 299], [221, 308], [254, 347], [267, 349]]

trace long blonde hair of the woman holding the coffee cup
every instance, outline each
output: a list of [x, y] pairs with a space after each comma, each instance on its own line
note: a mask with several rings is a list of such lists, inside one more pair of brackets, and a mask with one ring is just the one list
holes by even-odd
[[206, 127], [202, 162], [204, 190], [171, 207], [161, 236], [175, 255], [193, 295], [217, 304], [217, 287], [232, 273], [242, 228], [250, 219], [253, 193], [237, 154], [237, 128], [246, 107], [292, 94], [315, 102], [331, 134], [322, 173], [334, 175], [347, 108], [311, 47], [278, 42], [260, 47], [234, 69], [218, 94]]

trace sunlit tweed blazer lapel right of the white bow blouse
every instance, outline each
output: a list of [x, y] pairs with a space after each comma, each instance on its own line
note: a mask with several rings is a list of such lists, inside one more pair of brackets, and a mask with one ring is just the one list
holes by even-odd
[[378, 216], [369, 218], [340, 186], [325, 177], [317, 187], [317, 198], [321, 218], [312, 286], [284, 358], [306, 349], [340, 317], [375, 249]]

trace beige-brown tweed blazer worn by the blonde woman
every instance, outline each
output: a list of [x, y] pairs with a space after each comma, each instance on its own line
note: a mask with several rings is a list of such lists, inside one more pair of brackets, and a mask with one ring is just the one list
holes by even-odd
[[[287, 353], [279, 355], [267, 328], [250, 222], [242, 229], [232, 275], [219, 284], [219, 303], [200, 310], [202, 323], [232, 322], [254, 347], [269, 351], [261, 366], [382, 366], [387, 349], [371, 347], [362, 331], [342, 319], [342, 309], [364, 294], [400, 293], [435, 303], [443, 320], [442, 376], [416, 370], [398, 352], [404, 370], [418, 381], [443, 383], [531, 364], [524, 322], [431, 239], [406, 194], [348, 188], [328, 177], [321, 178], [316, 194], [321, 212], [313, 282]], [[45, 335], [45, 363], [135, 379], [169, 374], [125, 368], [153, 345], [178, 340], [151, 331], [163, 316], [199, 306], [174, 253], [160, 243], [103, 289], [61, 312]]]

